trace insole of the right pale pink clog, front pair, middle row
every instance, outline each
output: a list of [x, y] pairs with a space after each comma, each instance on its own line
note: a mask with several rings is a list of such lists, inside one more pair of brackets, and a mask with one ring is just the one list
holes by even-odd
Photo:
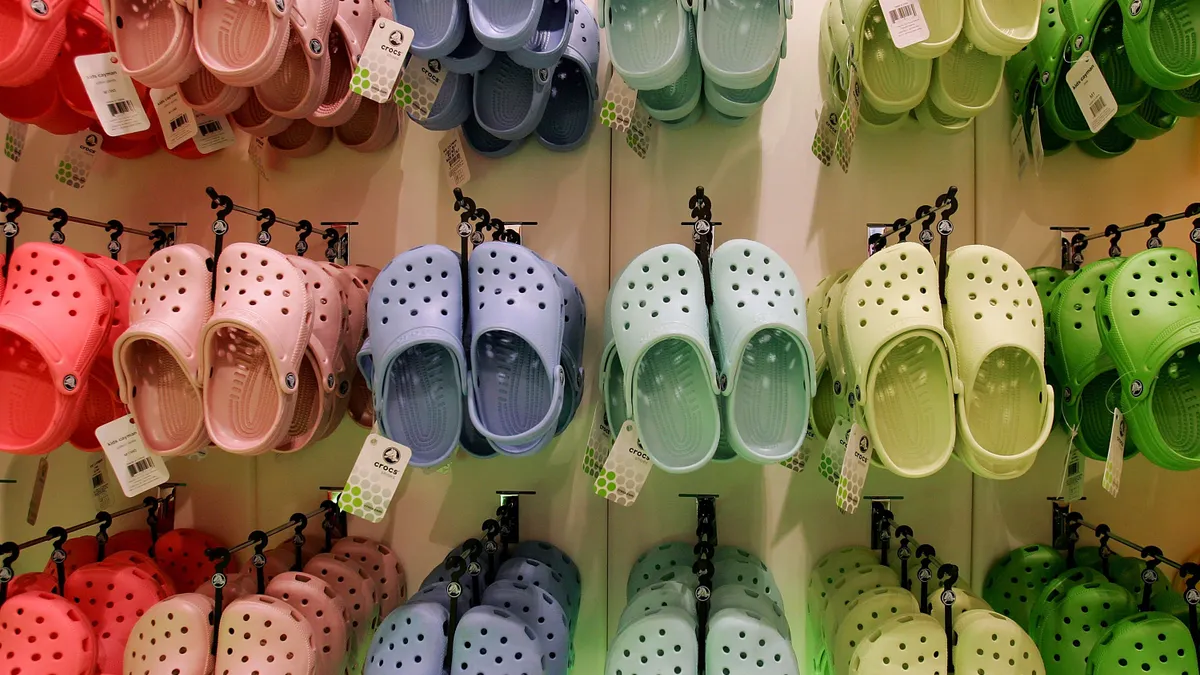
[[[283, 407], [271, 354], [250, 331], [223, 325], [212, 341], [216, 358], [205, 384], [209, 414], [234, 447], [257, 446], [274, 432]], [[229, 448], [226, 448], [229, 449]]]

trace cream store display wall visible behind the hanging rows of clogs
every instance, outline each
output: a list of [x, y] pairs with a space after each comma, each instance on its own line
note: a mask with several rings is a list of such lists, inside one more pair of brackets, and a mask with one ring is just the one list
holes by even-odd
[[[1055, 264], [1058, 240], [1051, 225], [1102, 226], [1115, 214], [1124, 225], [1150, 211], [1171, 213], [1195, 201], [1195, 125], [1181, 121], [1169, 137], [1140, 143], [1128, 156], [1099, 162], [1075, 149], [1051, 157], [1042, 177], [1015, 178], [1008, 131], [1010, 113], [1001, 102], [982, 115], [973, 131], [940, 136], [916, 124], [892, 135], [860, 132], [848, 174], [822, 168], [809, 153], [820, 108], [817, 22], [820, 6], [800, 4], [788, 24], [788, 58], [781, 61], [775, 90], [761, 115], [739, 127], [710, 121], [678, 132], [662, 131], [646, 160], [623, 139], [598, 129], [586, 148], [558, 155], [527, 144], [505, 160], [470, 156], [468, 192], [493, 215], [535, 220], [526, 244], [568, 269], [588, 304], [586, 364], [588, 386], [575, 423], [551, 452], [526, 460], [460, 459], [449, 471], [412, 470], [389, 518], [379, 525], [355, 521], [354, 533], [390, 542], [409, 583], [492, 514], [497, 490], [535, 490], [522, 501], [522, 537], [554, 542], [575, 557], [584, 577], [584, 611], [576, 639], [576, 673], [601, 673], [607, 637], [625, 605], [625, 578], [634, 560], [666, 540], [691, 540], [695, 501], [680, 492], [712, 492], [722, 544], [757, 552], [782, 586], [794, 647], [803, 653], [804, 590], [808, 569], [828, 550], [865, 544], [866, 509], [838, 513], [833, 488], [814, 470], [794, 474], [778, 466], [748, 462], [710, 465], [672, 476], [655, 471], [632, 507], [611, 506], [592, 492], [580, 471], [595, 405], [595, 363], [601, 347], [604, 299], [608, 286], [637, 253], [665, 243], [690, 243], [686, 203], [696, 186], [713, 201], [718, 243], [750, 238], [770, 246], [796, 270], [806, 291], [823, 276], [865, 256], [866, 222], [888, 223], [930, 203], [949, 185], [959, 187], [952, 246], [970, 243], [1001, 247], [1026, 267]], [[602, 68], [604, 71], [604, 68]], [[602, 89], [602, 83], [601, 83]], [[203, 190], [208, 185], [239, 204], [271, 207], [282, 217], [356, 220], [350, 259], [383, 267], [400, 251], [427, 243], [457, 249], [451, 185], [439, 160], [440, 133], [406, 125], [388, 150], [352, 153], [337, 144], [318, 157], [268, 167], [259, 177], [241, 145], [200, 162], [169, 155], [120, 162], [102, 157], [86, 187], [74, 191], [53, 180], [65, 139], [31, 131], [19, 165], [0, 162], [0, 191], [40, 208], [61, 205], [78, 215], [146, 220], [186, 220], [180, 243], [210, 245], [212, 219]], [[1140, 171], [1139, 171], [1140, 169]], [[1168, 177], [1169, 180], [1164, 179]], [[41, 240], [49, 227], [23, 221], [22, 240]], [[250, 241], [250, 216], [230, 217], [230, 241]], [[70, 245], [101, 251], [106, 235], [67, 229]], [[292, 252], [295, 237], [276, 226], [272, 247]], [[136, 237], [126, 237], [130, 259]], [[1144, 234], [1122, 244], [1141, 250]], [[1189, 249], [1187, 226], [1166, 229], [1168, 245]], [[316, 239], [313, 239], [316, 243]], [[1093, 241], [1087, 259], [1106, 250]], [[310, 257], [319, 257], [316, 244]], [[340, 485], [366, 431], [343, 424], [338, 431], [293, 455], [246, 459], [212, 450], [200, 461], [173, 460], [172, 478], [188, 483], [178, 519], [230, 540], [250, 530], [284, 521], [311, 509], [322, 485]], [[875, 470], [866, 494], [902, 496], [893, 503], [900, 522], [940, 557], [970, 571], [978, 587], [992, 561], [1018, 544], [1049, 537], [1046, 496], [1057, 491], [1064, 437], [1055, 431], [1034, 468], [1025, 477], [996, 483], [974, 478], [950, 462], [931, 478], [905, 480]], [[83, 496], [89, 486], [89, 455], [60, 448], [50, 471], [37, 526], [25, 524], [38, 458], [0, 455], [0, 474], [18, 480], [0, 485], [0, 538], [41, 534], [49, 524], [90, 518], [96, 507]], [[1127, 462], [1121, 497], [1099, 488], [1098, 464], [1090, 462], [1081, 509], [1092, 522], [1154, 543], [1176, 560], [1195, 545], [1188, 521], [1159, 515], [1193, 512], [1200, 501], [1187, 473], [1170, 473], [1144, 459]], [[1134, 504], [1136, 508], [1133, 508]], [[122, 506], [119, 502], [114, 508]], [[118, 525], [120, 527], [120, 524]], [[313, 526], [316, 531], [316, 525]], [[19, 565], [40, 567], [35, 556]], [[604, 608], [601, 610], [601, 608]]]

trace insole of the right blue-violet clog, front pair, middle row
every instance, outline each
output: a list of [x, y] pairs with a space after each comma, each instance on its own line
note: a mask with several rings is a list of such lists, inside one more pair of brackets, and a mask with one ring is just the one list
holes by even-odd
[[472, 356], [475, 405], [496, 436], [520, 436], [538, 425], [553, 404], [546, 364], [523, 338], [506, 330], [479, 336]]

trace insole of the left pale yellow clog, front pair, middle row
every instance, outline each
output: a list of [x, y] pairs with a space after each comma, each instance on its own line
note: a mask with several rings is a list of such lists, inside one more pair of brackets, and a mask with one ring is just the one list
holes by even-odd
[[892, 339], [875, 362], [874, 386], [864, 387], [871, 438], [896, 466], [924, 466], [955, 431], [946, 347], [914, 330]]

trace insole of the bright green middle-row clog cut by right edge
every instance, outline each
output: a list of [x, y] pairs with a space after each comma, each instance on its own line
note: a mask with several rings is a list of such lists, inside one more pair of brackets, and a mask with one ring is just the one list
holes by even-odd
[[[1200, 454], [1200, 345], [1188, 345], [1163, 365], [1154, 381], [1152, 410], [1163, 441], [1187, 458]], [[1111, 420], [1110, 420], [1111, 428]]]

